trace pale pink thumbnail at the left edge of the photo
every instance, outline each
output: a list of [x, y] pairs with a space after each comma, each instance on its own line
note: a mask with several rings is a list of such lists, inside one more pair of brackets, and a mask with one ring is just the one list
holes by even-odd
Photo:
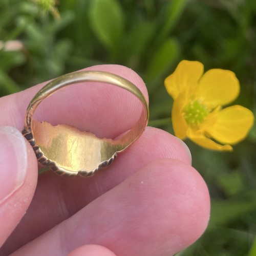
[[27, 162], [23, 135], [14, 127], [0, 127], [0, 204], [23, 184]]

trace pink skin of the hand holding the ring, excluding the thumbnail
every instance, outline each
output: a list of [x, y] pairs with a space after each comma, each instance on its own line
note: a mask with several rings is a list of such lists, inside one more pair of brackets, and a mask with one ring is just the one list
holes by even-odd
[[[129, 79], [148, 99], [143, 81], [128, 68], [104, 65], [89, 70]], [[1, 98], [0, 125], [21, 130], [27, 105], [44, 84]], [[115, 138], [136, 123], [140, 110], [131, 93], [87, 83], [44, 100], [35, 118]], [[207, 187], [191, 167], [186, 145], [162, 130], [147, 127], [108, 169], [91, 178], [47, 172], [37, 182], [36, 159], [30, 145], [27, 148], [25, 182], [0, 205], [2, 243], [33, 200], [0, 255], [94, 255], [89, 253], [93, 250], [95, 255], [172, 255], [195, 242], [207, 226]], [[11, 210], [17, 202], [19, 210]]]

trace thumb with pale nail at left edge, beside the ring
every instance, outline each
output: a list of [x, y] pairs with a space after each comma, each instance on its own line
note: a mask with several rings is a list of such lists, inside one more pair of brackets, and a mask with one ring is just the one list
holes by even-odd
[[25, 214], [37, 182], [35, 154], [14, 127], [0, 127], [0, 246]]

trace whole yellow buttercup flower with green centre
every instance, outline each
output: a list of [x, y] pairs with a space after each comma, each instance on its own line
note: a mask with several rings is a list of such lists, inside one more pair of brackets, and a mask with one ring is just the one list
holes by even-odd
[[164, 81], [174, 99], [175, 135], [211, 150], [231, 151], [232, 144], [247, 136], [254, 116], [240, 105], [222, 109], [239, 95], [239, 81], [233, 72], [211, 69], [203, 74], [203, 70], [201, 62], [182, 60]]

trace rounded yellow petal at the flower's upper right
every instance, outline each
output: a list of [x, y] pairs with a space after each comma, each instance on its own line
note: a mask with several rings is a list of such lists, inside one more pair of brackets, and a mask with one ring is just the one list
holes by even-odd
[[215, 108], [236, 99], [239, 91], [239, 81], [232, 71], [211, 69], [200, 79], [195, 96], [201, 98], [208, 108]]

